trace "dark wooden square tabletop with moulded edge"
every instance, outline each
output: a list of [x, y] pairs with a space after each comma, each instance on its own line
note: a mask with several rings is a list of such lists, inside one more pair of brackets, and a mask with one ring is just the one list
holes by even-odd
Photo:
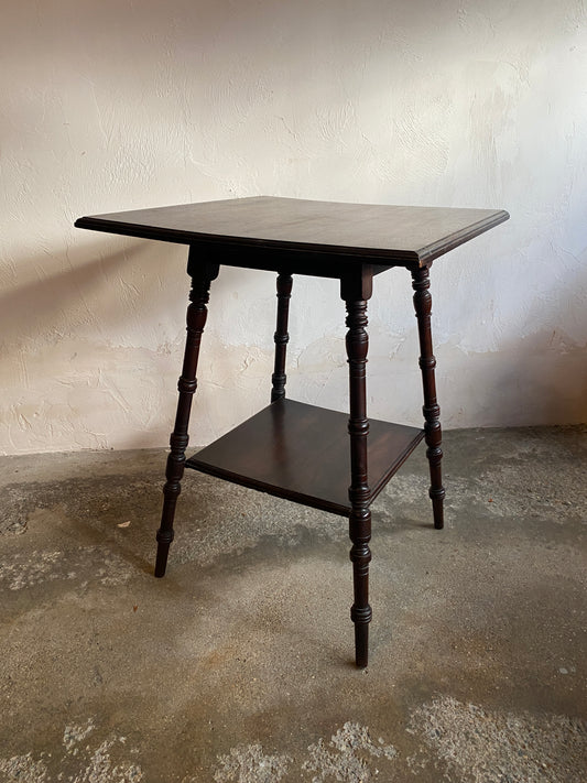
[[[220, 250], [425, 267], [509, 218], [502, 209], [407, 207], [256, 196], [79, 218], [78, 228]], [[231, 265], [252, 267], [230, 258]], [[261, 264], [262, 267], [262, 264]]]

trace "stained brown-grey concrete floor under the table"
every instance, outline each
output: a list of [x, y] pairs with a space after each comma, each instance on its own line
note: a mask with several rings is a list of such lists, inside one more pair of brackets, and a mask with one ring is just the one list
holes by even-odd
[[445, 436], [373, 505], [371, 662], [346, 522], [163, 450], [0, 459], [0, 780], [587, 780], [587, 428]]

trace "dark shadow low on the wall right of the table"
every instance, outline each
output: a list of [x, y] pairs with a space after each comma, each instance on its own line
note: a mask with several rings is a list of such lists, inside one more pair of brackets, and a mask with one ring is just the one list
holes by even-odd
[[[445, 420], [445, 426], [463, 426], [461, 417], [470, 418], [468, 405], [478, 411], [479, 426], [587, 422], [587, 345], [568, 334], [585, 331], [580, 292], [586, 290], [584, 268], [574, 275], [574, 302], [569, 301], [568, 279], [553, 284], [546, 323], [542, 317], [545, 308], [542, 298], [534, 297], [530, 304], [521, 300], [523, 319], [518, 322], [518, 330], [507, 325], [497, 350], [470, 352], [464, 359], [458, 345], [438, 346], [441, 407], [445, 396], [461, 401]], [[575, 319], [566, 317], [569, 313], [576, 314]], [[460, 365], [465, 372], [450, 378], [443, 371], [445, 363]]]

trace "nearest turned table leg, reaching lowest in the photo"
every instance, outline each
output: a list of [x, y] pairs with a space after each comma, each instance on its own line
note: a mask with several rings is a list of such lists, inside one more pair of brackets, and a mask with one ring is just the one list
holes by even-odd
[[357, 666], [367, 666], [369, 660], [369, 563], [371, 551], [371, 512], [369, 510], [369, 483], [367, 475], [367, 418], [366, 365], [369, 338], [367, 336], [367, 302], [346, 301], [347, 327], [346, 347], [349, 365], [350, 417], [350, 488], [351, 512], [349, 536], [352, 542], [350, 559], [355, 600], [350, 618], [355, 623], [355, 656]]

